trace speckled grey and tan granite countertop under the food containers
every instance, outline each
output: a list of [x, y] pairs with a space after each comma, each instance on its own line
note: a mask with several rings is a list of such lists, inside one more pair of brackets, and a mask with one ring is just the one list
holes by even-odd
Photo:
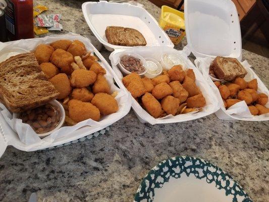
[[[160, 9], [139, 0], [156, 19]], [[39, 0], [63, 15], [62, 33], [92, 35], [82, 1]], [[61, 32], [55, 32], [61, 33]], [[51, 34], [51, 33], [49, 33]], [[182, 49], [186, 40], [176, 46]], [[101, 50], [106, 60], [109, 52]], [[190, 57], [193, 60], [193, 57]], [[269, 86], [269, 59], [243, 50]], [[253, 201], [269, 200], [269, 122], [222, 121], [216, 115], [175, 124], [150, 125], [134, 112], [103, 135], [59, 148], [24, 152], [9, 146], [0, 159], [0, 201], [27, 201], [37, 192], [57, 201], [132, 201], [145, 174], [174, 156], [198, 157], [227, 171]]]

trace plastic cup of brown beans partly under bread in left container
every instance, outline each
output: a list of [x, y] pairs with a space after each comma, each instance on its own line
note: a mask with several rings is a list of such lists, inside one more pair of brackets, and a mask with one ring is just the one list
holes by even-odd
[[39, 137], [45, 137], [62, 127], [65, 110], [57, 100], [52, 100], [46, 105], [15, 114], [15, 118], [29, 124]]

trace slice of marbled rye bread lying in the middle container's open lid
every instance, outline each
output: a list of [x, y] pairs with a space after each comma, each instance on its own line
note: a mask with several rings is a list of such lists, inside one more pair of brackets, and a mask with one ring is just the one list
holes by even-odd
[[109, 26], [105, 29], [107, 42], [113, 45], [138, 46], [146, 45], [144, 36], [132, 28]]

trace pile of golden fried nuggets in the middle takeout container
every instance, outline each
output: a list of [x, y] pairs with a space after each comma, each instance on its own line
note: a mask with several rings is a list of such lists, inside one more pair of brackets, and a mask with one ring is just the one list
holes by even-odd
[[153, 79], [131, 73], [123, 77], [122, 82], [154, 118], [198, 112], [206, 105], [205, 98], [195, 84], [193, 70], [184, 71], [181, 65], [176, 65]]

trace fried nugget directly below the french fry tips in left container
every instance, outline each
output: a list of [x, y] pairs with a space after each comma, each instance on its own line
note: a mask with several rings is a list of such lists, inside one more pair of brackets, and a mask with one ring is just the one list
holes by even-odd
[[93, 84], [96, 81], [97, 75], [90, 70], [77, 69], [71, 74], [71, 86], [82, 88]]

